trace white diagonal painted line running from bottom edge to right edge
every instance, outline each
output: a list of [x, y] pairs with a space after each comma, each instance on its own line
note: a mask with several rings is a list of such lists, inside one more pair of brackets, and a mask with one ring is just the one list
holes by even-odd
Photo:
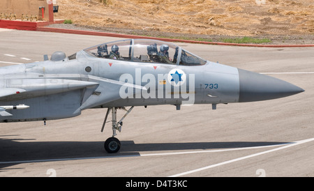
[[299, 144], [304, 144], [304, 143], [307, 143], [307, 142], [313, 142], [314, 141], [314, 138], [312, 139], [304, 139], [304, 140], [301, 140], [299, 142], [295, 142], [294, 144], [288, 144], [286, 146], [281, 146], [279, 148], [274, 148], [274, 149], [271, 149], [269, 151], [264, 151], [264, 152], [260, 152], [260, 153], [255, 153], [253, 155], [247, 155], [247, 156], [244, 156], [244, 157], [241, 157], [241, 158], [235, 158], [233, 160], [227, 160], [225, 162], [220, 162], [218, 164], [215, 164], [215, 165], [209, 165], [207, 167], [202, 167], [202, 168], [199, 168], [199, 169], [194, 169], [194, 170], [190, 170], [190, 171], [186, 171], [186, 172], [182, 172], [180, 174], [174, 174], [172, 176], [169, 176], [169, 177], [178, 177], [178, 176], [184, 176], [184, 175], [187, 175], [187, 174], [192, 174], [192, 173], [195, 173], [197, 171], [203, 171], [203, 170], [206, 170], [206, 169], [211, 169], [211, 168], [214, 168], [214, 167], [218, 167], [218, 166], [221, 166], [221, 165], [226, 165], [226, 164], [229, 164], [229, 163], [232, 163], [232, 162], [237, 162], [239, 160], [245, 160], [245, 159], [248, 159], [248, 158], [253, 158], [255, 156], [258, 156], [258, 155], [264, 155], [264, 154], [267, 154], [267, 153], [271, 153], [271, 152], [274, 152], [274, 151], [279, 151], [279, 150], [282, 150], [282, 149], [285, 149], [285, 148], [289, 148], [291, 146], [297, 146]]

